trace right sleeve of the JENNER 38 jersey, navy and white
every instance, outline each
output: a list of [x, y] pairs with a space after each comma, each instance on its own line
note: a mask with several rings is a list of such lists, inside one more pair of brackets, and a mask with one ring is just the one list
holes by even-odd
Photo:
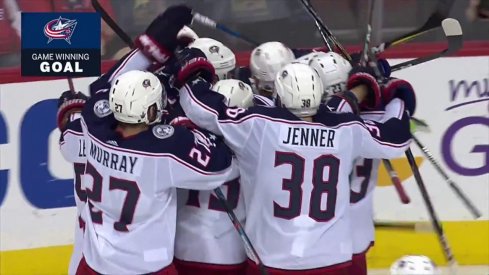
[[[386, 108], [386, 113], [390, 110]], [[401, 156], [409, 147], [411, 132], [409, 115], [401, 112], [401, 117], [390, 117], [383, 123], [365, 120], [360, 126], [355, 126], [356, 137], [360, 140], [358, 156], [364, 158], [391, 159]], [[357, 140], [358, 140], [357, 139]]]

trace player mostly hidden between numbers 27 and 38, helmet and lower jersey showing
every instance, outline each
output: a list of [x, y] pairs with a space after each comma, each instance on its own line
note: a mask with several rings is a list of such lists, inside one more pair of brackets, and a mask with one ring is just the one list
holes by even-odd
[[[226, 98], [230, 107], [253, 105], [251, 87], [235, 79], [220, 80], [213, 90]], [[178, 118], [176, 124], [191, 125]], [[243, 194], [239, 178], [221, 187], [228, 205], [242, 224], [245, 220]], [[246, 254], [243, 243], [226, 214], [225, 208], [211, 191], [179, 190], [175, 265], [179, 275], [244, 275]]]

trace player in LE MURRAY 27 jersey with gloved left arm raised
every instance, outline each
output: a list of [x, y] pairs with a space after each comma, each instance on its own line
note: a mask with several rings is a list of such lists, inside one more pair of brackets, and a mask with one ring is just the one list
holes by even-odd
[[[191, 19], [185, 6], [158, 16], [137, 38], [138, 49], [92, 83], [82, 117], [70, 123], [83, 131], [87, 158], [84, 257], [77, 274], [176, 274], [175, 187], [209, 190], [238, 175], [215, 135], [159, 123], [165, 92], [156, 76], [136, 70], [166, 62], [177, 32]], [[59, 114], [79, 107], [75, 100]], [[76, 159], [73, 147], [65, 138], [67, 159]]]

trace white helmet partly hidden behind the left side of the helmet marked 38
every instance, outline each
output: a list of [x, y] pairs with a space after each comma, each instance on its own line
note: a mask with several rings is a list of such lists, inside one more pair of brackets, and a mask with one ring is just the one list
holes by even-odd
[[277, 72], [295, 59], [290, 48], [280, 42], [266, 42], [251, 52], [251, 75], [258, 80], [257, 88], [273, 91]]

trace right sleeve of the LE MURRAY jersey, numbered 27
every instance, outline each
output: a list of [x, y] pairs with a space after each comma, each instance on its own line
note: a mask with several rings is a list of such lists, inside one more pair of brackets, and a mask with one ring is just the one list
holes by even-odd
[[177, 159], [169, 167], [174, 187], [210, 190], [238, 177], [231, 150], [222, 138], [200, 129], [177, 127], [176, 131]]

